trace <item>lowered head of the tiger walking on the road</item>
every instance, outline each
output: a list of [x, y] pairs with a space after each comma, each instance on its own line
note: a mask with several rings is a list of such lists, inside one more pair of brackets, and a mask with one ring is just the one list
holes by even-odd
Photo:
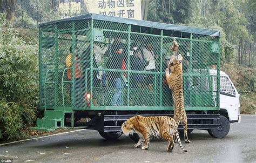
[[138, 124], [138, 119], [141, 116], [135, 116], [132, 117], [128, 120], [126, 120], [123, 124], [122, 124], [122, 133], [125, 135], [129, 135], [132, 134], [133, 132], [136, 131], [136, 125]]

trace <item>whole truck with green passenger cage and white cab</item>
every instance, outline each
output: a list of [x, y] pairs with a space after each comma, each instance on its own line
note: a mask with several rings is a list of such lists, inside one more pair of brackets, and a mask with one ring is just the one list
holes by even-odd
[[[239, 93], [220, 71], [220, 31], [95, 13], [39, 25], [38, 106], [44, 116], [31, 129], [87, 128], [117, 139], [132, 116], [172, 117], [165, 69], [174, 38], [184, 58], [188, 131], [224, 138], [241, 118]], [[146, 51], [153, 59], [146, 60]], [[136, 65], [138, 58], [144, 67]], [[146, 69], [149, 64], [153, 69]]]

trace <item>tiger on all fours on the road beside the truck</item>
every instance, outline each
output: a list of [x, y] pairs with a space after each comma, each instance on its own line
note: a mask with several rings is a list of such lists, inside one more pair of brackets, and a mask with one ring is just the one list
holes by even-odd
[[164, 140], [169, 141], [169, 145], [166, 150], [171, 152], [174, 146], [173, 134], [175, 134], [178, 139], [181, 150], [187, 152], [181, 145], [176, 121], [171, 117], [131, 117], [122, 124], [121, 133], [129, 135], [134, 132], [136, 132], [140, 137], [138, 143], [134, 145], [134, 147], [141, 147], [144, 142], [145, 145], [142, 147], [142, 149], [147, 150], [149, 149], [151, 138], [162, 138]]

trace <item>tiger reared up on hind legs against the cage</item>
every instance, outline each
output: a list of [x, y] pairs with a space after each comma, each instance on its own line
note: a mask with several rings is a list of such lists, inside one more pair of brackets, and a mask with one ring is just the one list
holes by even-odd
[[[174, 103], [173, 119], [176, 121], [177, 126], [183, 123], [185, 142], [190, 143], [187, 137], [187, 116], [184, 109], [182, 59], [183, 57], [180, 54], [177, 57], [171, 56], [168, 68], [165, 70], [165, 77], [169, 88], [172, 90]], [[171, 73], [169, 73], [169, 69]]]

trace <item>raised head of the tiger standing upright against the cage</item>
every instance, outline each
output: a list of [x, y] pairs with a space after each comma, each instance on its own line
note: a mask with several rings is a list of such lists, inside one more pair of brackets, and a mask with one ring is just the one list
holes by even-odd
[[182, 59], [183, 57], [181, 54], [178, 56], [171, 56], [170, 62], [168, 64], [168, 68], [171, 70], [171, 74], [176, 74], [179, 76], [182, 74]]

